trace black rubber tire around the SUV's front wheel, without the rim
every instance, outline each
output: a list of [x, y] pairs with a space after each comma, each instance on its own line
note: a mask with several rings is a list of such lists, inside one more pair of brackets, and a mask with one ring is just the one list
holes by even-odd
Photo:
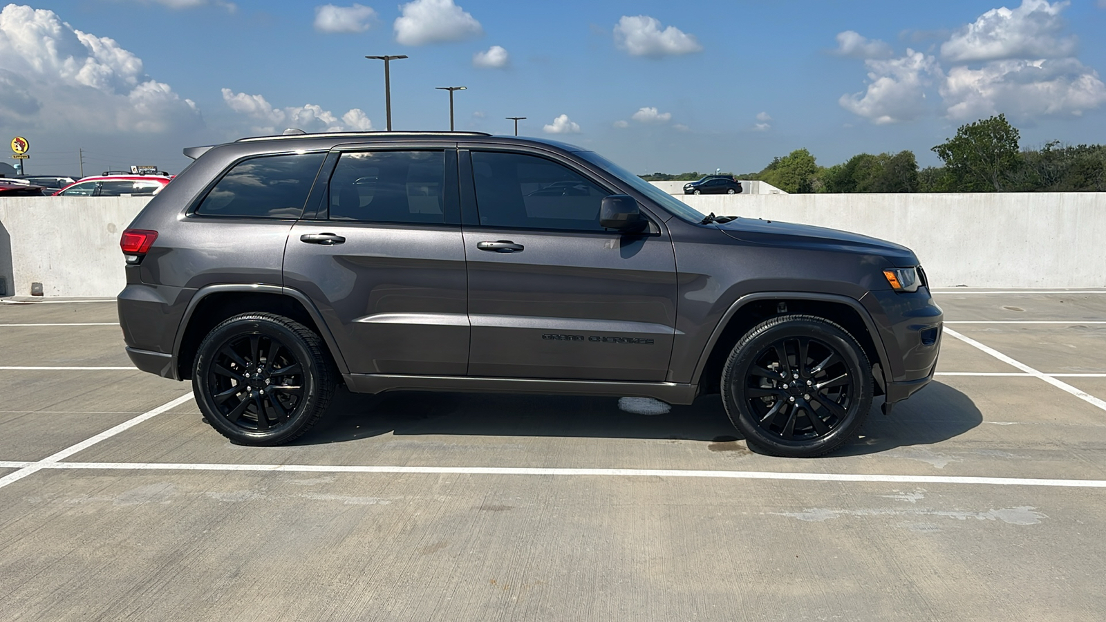
[[[770, 324], [770, 325], [765, 325]], [[845, 419], [830, 434], [814, 440], [785, 440], [760, 427], [744, 397], [745, 377], [755, 356], [769, 344], [781, 339], [805, 336], [822, 341], [833, 348], [845, 361], [848, 373], [858, 379], [858, 392], [845, 411]], [[737, 380], [737, 382], [734, 382]], [[737, 390], [734, 388], [737, 385]], [[730, 353], [722, 372], [722, 401], [733, 425], [747, 442], [768, 452], [790, 457], [810, 457], [826, 454], [855, 438], [856, 432], [872, 407], [873, 380], [867, 357], [856, 340], [847, 332], [826, 321], [792, 319], [771, 324], [765, 322], [750, 331]]]

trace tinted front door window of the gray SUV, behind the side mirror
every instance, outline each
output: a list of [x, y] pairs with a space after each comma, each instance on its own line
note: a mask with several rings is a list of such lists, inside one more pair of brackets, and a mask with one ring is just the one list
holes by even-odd
[[599, 205], [611, 195], [575, 170], [543, 157], [472, 152], [480, 225], [604, 231]]

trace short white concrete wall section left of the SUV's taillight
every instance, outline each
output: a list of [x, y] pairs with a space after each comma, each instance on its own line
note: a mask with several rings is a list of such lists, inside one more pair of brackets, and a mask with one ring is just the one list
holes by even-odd
[[0, 198], [4, 294], [114, 297], [123, 289], [119, 236], [149, 197]]

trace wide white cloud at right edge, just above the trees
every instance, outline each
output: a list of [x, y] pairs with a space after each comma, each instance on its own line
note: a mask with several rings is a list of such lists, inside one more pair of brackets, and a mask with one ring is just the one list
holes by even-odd
[[941, 85], [947, 114], [967, 121], [998, 113], [1014, 118], [1074, 115], [1106, 104], [1106, 84], [1075, 59], [1008, 60], [957, 66]]

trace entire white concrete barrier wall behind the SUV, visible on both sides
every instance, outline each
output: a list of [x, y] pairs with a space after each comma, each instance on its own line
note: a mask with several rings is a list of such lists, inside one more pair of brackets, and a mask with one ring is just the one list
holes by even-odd
[[[681, 197], [703, 212], [805, 222], [906, 245], [935, 287], [1106, 287], [1106, 193]], [[4, 294], [114, 297], [119, 235], [144, 197], [0, 198]]]

